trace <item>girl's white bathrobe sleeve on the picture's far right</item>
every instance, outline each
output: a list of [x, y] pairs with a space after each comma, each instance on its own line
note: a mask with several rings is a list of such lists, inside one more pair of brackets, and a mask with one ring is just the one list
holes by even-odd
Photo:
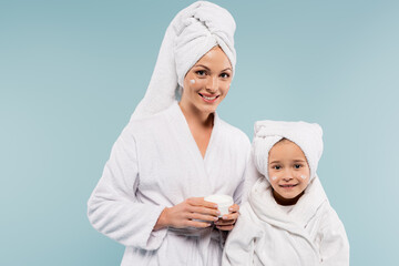
[[320, 227], [321, 265], [349, 266], [349, 242], [342, 222], [330, 208]]

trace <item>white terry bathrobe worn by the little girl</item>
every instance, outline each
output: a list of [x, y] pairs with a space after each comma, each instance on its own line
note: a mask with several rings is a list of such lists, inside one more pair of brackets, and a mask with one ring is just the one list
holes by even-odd
[[290, 207], [278, 205], [268, 181], [259, 178], [227, 237], [222, 265], [349, 265], [344, 225], [317, 176]]

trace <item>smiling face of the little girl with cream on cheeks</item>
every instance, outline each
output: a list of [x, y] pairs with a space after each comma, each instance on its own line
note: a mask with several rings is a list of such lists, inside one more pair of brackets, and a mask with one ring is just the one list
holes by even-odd
[[293, 205], [307, 187], [310, 170], [300, 147], [291, 141], [283, 140], [270, 149], [268, 175], [276, 202]]

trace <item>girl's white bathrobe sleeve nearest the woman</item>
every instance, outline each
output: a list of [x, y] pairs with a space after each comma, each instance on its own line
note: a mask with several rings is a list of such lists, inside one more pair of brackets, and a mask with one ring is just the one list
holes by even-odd
[[244, 204], [234, 229], [228, 234], [223, 250], [222, 266], [254, 265], [256, 239], [262, 237], [262, 231], [248, 217]]

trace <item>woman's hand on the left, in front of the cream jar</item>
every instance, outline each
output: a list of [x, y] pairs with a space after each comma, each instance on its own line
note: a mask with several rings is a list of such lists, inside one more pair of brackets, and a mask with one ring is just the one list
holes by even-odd
[[154, 231], [167, 226], [204, 228], [217, 221], [218, 215], [216, 204], [205, 202], [203, 197], [190, 197], [173, 207], [165, 207], [154, 226]]

